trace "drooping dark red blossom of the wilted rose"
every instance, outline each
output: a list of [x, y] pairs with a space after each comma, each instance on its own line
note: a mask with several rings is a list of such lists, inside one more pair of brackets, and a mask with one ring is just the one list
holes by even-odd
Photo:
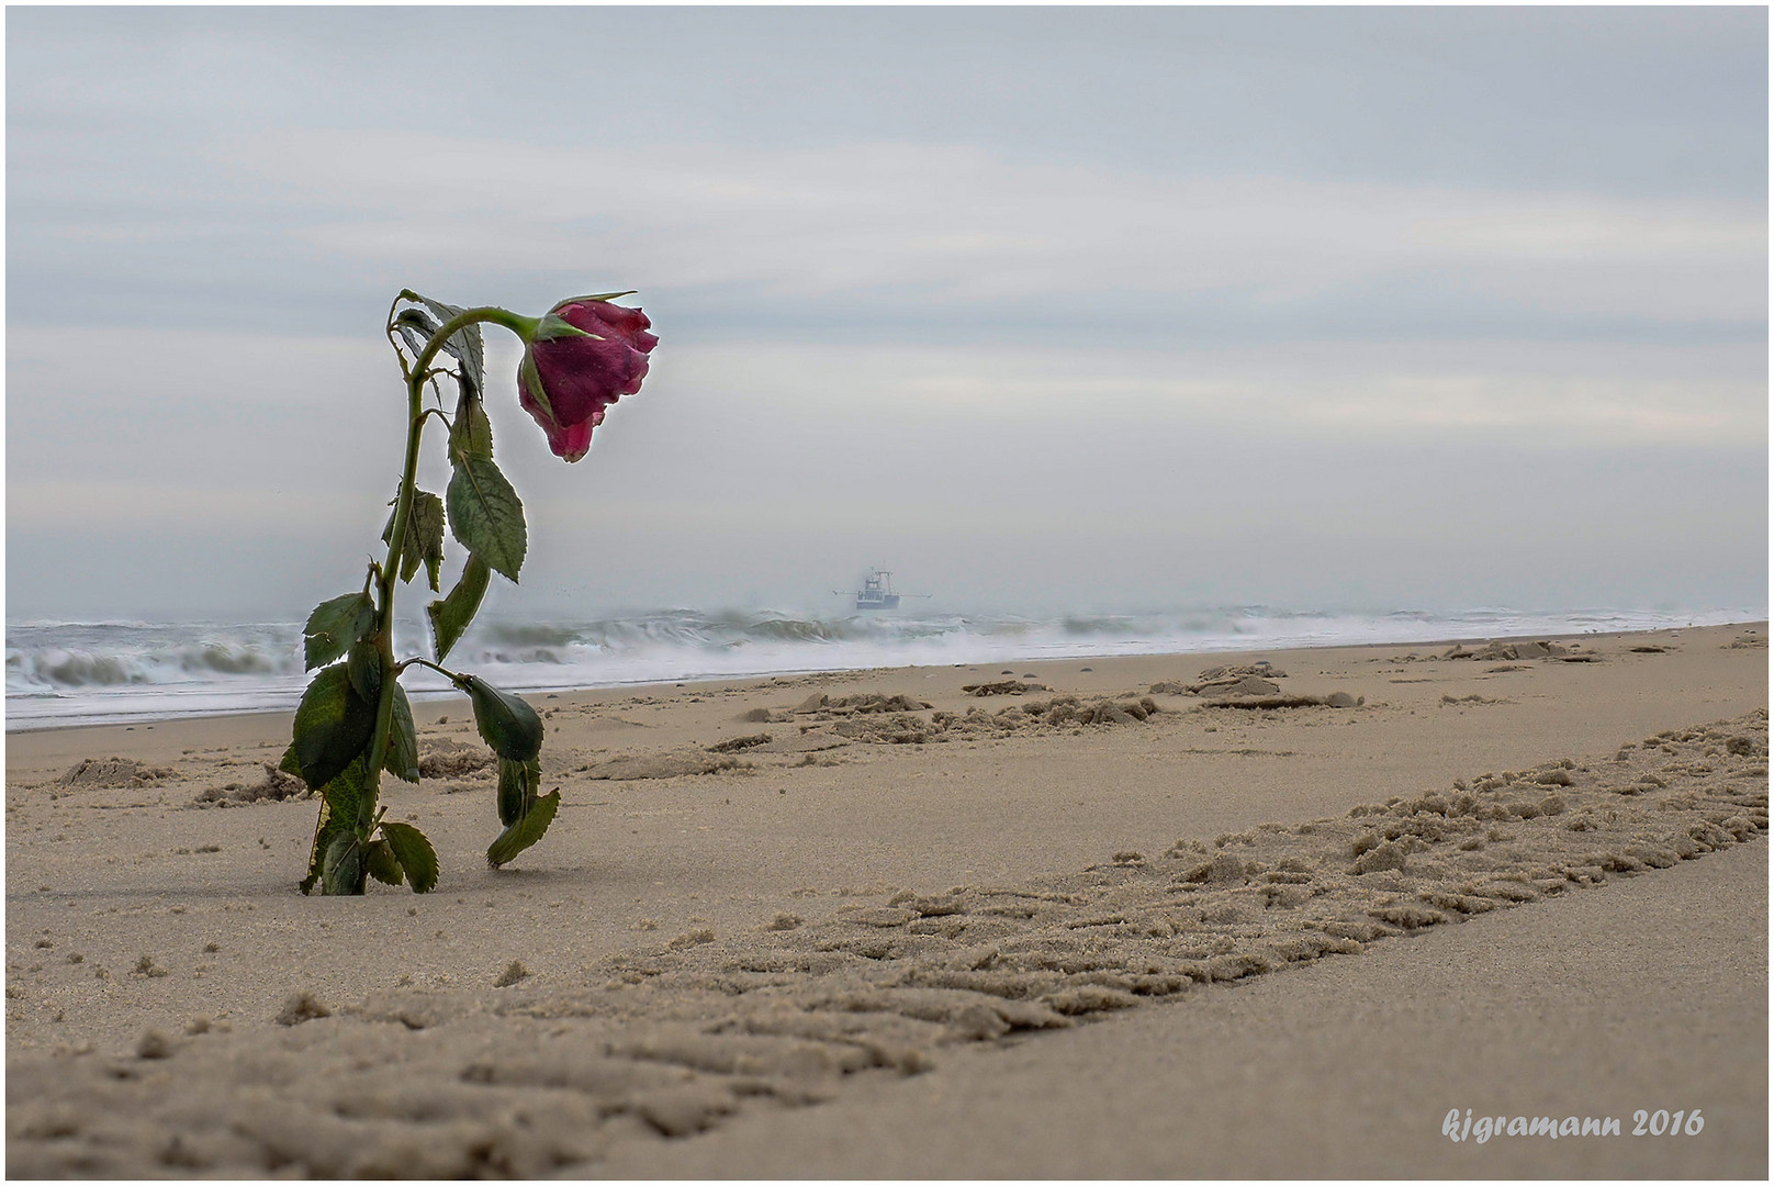
[[658, 344], [651, 325], [644, 312], [612, 305], [608, 296], [562, 300], [541, 320], [523, 346], [518, 403], [548, 433], [555, 456], [585, 456], [605, 408], [640, 391], [648, 355]]

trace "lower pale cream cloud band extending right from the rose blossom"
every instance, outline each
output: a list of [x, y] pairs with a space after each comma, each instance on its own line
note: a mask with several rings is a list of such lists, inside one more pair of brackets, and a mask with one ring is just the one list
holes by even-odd
[[1765, 440], [1763, 366], [1756, 348], [1556, 343], [1302, 343], [1286, 353], [717, 343], [671, 352], [660, 376], [750, 419], [910, 421], [977, 439], [1015, 417], [1327, 444], [1515, 435], [1604, 447]]

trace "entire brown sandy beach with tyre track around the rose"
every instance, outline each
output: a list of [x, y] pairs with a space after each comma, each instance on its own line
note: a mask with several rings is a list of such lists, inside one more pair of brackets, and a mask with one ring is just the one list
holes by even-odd
[[7, 1172], [1765, 1177], [1767, 627], [1558, 641], [538, 696], [500, 872], [422, 703], [429, 895], [287, 714], [9, 735]]

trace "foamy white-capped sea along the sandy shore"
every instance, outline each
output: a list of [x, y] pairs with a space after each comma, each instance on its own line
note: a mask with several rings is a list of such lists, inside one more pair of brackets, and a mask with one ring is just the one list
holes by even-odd
[[[584, 621], [477, 621], [449, 666], [507, 691], [564, 691], [910, 664], [1572, 637], [1762, 618], [1765, 607], [1354, 613], [1235, 605], [1089, 616], [663, 609]], [[399, 623], [396, 634], [399, 653], [429, 657], [419, 623]], [[422, 668], [408, 669], [403, 684], [413, 700], [452, 694], [447, 680]], [[305, 685], [298, 621], [7, 623], [7, 731], [287, 710]]]

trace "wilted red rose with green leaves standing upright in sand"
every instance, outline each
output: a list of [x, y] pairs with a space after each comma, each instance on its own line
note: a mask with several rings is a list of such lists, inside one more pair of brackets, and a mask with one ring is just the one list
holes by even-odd
[[[591, 449], [591, 430], [605, 410], [640, 391], [648, 355], [658, 339], [639, 309], [612, 305], [600, 293], [559, 302], [541, 318], [497, 305], [463, 309], [412, 289], [389, 305], [383, 332], [406, 385], [406, 465], [394, 513], [381, 538], [387, 559], [371, 559], [364, 584], [316, 605], [302, 629], [303, 666], [316, 671], [291, 724], [289, 749], [279, 769], [296, 774], [323, 801], [309, 850], [302, 891], [362, 895], [371, 877], [413, 893], [438, 884], [431, 842], [412, 824], [378, 808], [383, 772], [419, 781], [419, 735], [401, 673], [419, 664], [468, 694], [481, 739], [498, 758], [498, 822], [504, 831], [486, 849], [493, 868], [529, 850], [553, 822], [561, 792], [538, 794], [543, 723], [522, 696], [504, 692], [477, 675], [444, 666], [451, 648], [474, 621], [491, 573], [513, 582], [529, 552], [523, 502], [493, 462], [493, 424], [483, 407], [486, 350], [481, 325], [498, 325], [523, 343], [518, 399], [548, 433], [548, 447], [568, 462]], [[426, 408], [428, 387], [444, 399], [436, 380], [452, 376], [459, 399], [454, 415]], [[451, 479], [440, 497], [419, 488], [424, 431], [442, 417], [449, 430]], [[426, 607], [435, 659], [394, 650], [394, 598], [419, 568], [433, 593], [442, 593], [445, 529], [468, 556], [456, 586]], [[417, 818], [417, 817], [413, 817]]]

